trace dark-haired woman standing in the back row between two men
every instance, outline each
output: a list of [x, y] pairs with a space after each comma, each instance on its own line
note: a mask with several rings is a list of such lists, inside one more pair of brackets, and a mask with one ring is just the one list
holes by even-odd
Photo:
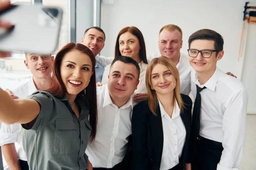
[[[137, 27], [125, 27], [121, 31], [119, 31], [116, 37], [115, 46], [115, 57], [118, 56], [128, 56], [138, 62], [140, 66], [140, 83], [137, 90], [135, 90], [135, 93], [137, 93], [137, 95], [134, 97], [134, 101], [140, 102], [143, 99], [146, 99], [147, 90], [145, 88], [145, 73], [148, 66], [148, 61], [146, 57], [144, 37]], [[112, 60], [114, 59], [114, 57], [108, 58], [111, 58]], [[102, 84], [106, 84], [108, 82], [109, 70], [110, 65], [107, 65], [102, 76]]]

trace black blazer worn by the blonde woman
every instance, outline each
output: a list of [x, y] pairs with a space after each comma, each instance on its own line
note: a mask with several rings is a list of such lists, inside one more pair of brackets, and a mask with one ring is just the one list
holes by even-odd
[[[190, 163], [189, 135], [191, 125], [192, 100], [181, 94], [184, 110], [180, 117], [186, 128], [185, 144], [180, 157], [181, 167]], [[163, 152], [163, 125], [160, 107], [157, 107], [157, 116], [151, 113], [148, 100], [140, 102], [133, 109], [132, 127], [132, 170], [159, 170]], [[170, 160], [172, 161], [172, 160]]]

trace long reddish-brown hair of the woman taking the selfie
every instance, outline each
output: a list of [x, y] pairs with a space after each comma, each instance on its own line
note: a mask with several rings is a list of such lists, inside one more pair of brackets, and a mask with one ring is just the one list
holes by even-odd
[[63, 57], [70, 51], [77, 50], [81, 53], [86, 54], [90, 57], [92, 61], [92, 71], [93, 75], [90, 77], [90, 82], [88, 86], [82, 90], [77, 96], [80, 100], [84, 102], [84, 105], [89, 107], [89, 116], [90, 116], [90, 125], [92, 127], [92, 133], [90, 135], [90, 142], [93, 142], [96, 136], [97, 129], [97, 99], [96, 99], [96, 77], [95, 77], [95, 57], [92, 51], [87, 48], [85, 45], [79, 43], [70, 42], [61, 48], [60, 51], [56, 54], [54, 63], [53, 63], [53, 72], [50, 86], [47, 90], [52, 96], [55, 96], [58, 99], [61, 99], [67, 92], [67, 89], [61, 79], [61, 62]]

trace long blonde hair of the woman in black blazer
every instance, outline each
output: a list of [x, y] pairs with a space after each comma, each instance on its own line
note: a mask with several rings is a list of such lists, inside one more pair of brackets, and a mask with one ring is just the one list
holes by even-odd
[[154, 114], [154, 116], [157, 116], [156, 111], [157, 111], [157, 107], [158, 107], [159, 103], [158, 103], [156, 91], [151, 89], [151, 84], [152, 84], [151, 83], [151, 74], [152, 74], [152, 70], [153, 70], [154, 66], [157, 64], [165, 65], [167, 68], [169, 68], [172, 75], [175, 77], [176, 86], [173, 90], [174, 91], [173, 99], [174, 99], [174, 101], [175, 101], [175, 99], [177, 100], [180, 111], [182, 112], [183, 108], [184, 108], [184, 104], [183, 104], [183, 101], [180, 96], [179, 71], [176, 68], [175, 64], [170, 59], [168, 59], [167, 57], [164, 57], [164, 56], [152, 59], [151, 62], [148, 64], [148, 68], [146, 71], [146, 88], [147, 88], [147, 92], [148, 92], [148, 106], [149, 106], [150, 111]]

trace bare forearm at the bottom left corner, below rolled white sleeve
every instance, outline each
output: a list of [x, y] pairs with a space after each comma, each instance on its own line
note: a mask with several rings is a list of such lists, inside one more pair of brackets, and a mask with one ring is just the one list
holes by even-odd
[[15, 144], [5, 144], [2, 146], [3, 157], [10, 170], [20, 170]]

